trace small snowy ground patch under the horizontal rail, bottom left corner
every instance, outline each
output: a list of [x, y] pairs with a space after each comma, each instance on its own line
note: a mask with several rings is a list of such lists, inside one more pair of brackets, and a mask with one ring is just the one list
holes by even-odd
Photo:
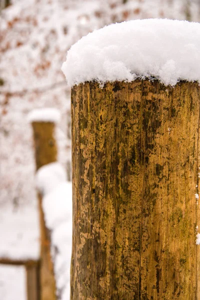
[[0, 264], [0, 299], [26, 300], [26, 272], [24, 266]]

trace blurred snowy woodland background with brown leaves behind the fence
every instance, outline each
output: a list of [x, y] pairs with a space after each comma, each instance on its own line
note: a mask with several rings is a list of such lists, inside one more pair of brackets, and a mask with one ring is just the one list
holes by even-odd
[[[27, 121], [32, 109], [59, 109], [59, 162], [66, 179], [71, 179], [70, 90], [60, 70], [67, 50], [106, 24], [155, 17], [199, 22], [200, 0], [12, 0], [1, 10], [0, 257], [39, 255], [32, 132]], [[0, 299], [16, 295], [26, 298], [23, 267], [0, 265]]]

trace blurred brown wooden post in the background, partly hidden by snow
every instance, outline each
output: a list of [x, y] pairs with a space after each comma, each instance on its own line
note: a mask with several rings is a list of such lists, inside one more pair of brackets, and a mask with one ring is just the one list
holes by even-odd
[[[57, 146], [54, 138], [54, 122], [33, 121], [33, 138], [36, 170], [41, 166], [57, 160]], [[42, 210], [42, 195], [38, 194], [40, 218], [40, 299], [55, 300], [55, 278], [50, 255], [50, 234], [45, 226]]]

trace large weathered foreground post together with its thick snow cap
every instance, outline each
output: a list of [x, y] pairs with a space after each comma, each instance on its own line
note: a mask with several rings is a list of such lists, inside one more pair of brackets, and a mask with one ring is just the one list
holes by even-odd
[[134, 20], [67, 53], [71, 299], [198, 299], [200, 24]]

